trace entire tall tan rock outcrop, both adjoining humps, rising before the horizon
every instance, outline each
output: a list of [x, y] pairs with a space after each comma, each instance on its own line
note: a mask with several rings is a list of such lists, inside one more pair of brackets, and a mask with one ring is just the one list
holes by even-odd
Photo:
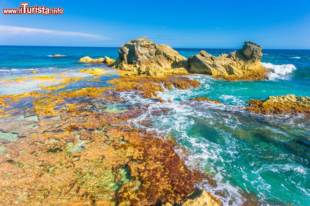
[[264, 80], [271, 69], [261, 65], [261, 50], [254, 42], [244, 42], [241, 49], [229, 55], [215, 57], [202, 50], [186, 59], [170, 46], [141, 37], [120, 46], [119, 56], [111, 66], [150, 77], [189, 72], [226, 80]]

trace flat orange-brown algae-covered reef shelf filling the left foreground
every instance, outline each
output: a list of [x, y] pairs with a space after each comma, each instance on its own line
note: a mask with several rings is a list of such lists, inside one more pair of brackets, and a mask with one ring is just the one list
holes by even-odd
[[173, 141], [127, 126], [148, 105], [117, 106], [124, 101], [121, 91], [156, 98], [163, 87], [195, 88], [198, 81], [132, 75], [109, 83], [63, 91], [55, 85], [54, 92], [0, 96], [1, 122], [7, 122], [0, 124], [1, 203], [175, 205], [209, 178], [187, 168]]

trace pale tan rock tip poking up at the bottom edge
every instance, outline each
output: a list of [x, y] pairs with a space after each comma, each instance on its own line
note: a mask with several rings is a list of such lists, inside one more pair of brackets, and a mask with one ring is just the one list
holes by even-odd
[[[193, 192], [188, 198], [178, 206], [220, 206], [219, 200], [206, 192], [205, 190], [197, 190]], [[162, 204], [162, 206], [172, 206], [169, 202]]]

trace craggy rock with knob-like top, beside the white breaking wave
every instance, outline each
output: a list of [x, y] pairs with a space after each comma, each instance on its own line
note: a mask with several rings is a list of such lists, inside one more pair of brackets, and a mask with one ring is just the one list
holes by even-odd
[[264, 80], [271, 69], [260, 63], [262, 47], [254, 42], [244, 42], [241, 49], [229, 55], [212, 56], [202, 50], [188, 58], [188, 72], [209, 74], [227, 80]]

